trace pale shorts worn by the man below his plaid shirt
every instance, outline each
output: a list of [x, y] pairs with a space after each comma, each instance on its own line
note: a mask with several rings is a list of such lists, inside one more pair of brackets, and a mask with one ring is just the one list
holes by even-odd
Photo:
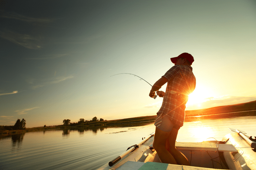
[[165, 132], [170, 132], [172, 128], [175, 128], [177, 130], [181, 128], [180, 126], [175, 125], [167, 115], [162, 116], [162, 114], [156, 117], [154, 125], [156, 126], [156, 128]]

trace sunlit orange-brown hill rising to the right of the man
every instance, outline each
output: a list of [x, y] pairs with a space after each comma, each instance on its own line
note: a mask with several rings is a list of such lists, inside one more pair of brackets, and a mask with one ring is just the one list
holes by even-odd
[[233, 113], [233, 112], [244, 112], [244, 111], [255, 111], [255, 110], [256, 110], [256, 101], [252, 101], [252, 102], [233, 104], [228, 106], [217, 106], [217, 107], [211, 107], [207, 109], [186, 111], [186, 117]]

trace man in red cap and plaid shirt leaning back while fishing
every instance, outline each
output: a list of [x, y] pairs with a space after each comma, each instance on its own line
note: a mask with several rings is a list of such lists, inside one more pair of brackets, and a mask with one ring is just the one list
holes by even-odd
[[[185, 120], [185, 104], [188, 95], [196, 87], [196, 78], [192, 72], [191, 64], [194, 58], [189, 53], [182, 53], [171, 58], [175, 66], [171, 67], [150, 90], [150, 97], [163, 97], [160, 110], [155, 120], [155, 138], [153, 147], [162, 163], [190, 165], [185, 155], [175, 147], [178, 130]], [[167, 83], [166, 91], [158, 91]], [[156, 92], [156, 94], [155, 94]]]

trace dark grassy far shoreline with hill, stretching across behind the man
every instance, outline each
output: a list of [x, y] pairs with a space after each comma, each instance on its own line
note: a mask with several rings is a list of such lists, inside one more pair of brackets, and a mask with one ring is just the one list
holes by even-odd
[[[256, 101], [233, 104], [228, 106], [217, 106], [206, 109], [185, 111], [185, 122], [186, 121], [198, 121], [200, 119], [219, 119], [219, 118], [231, 118], [231, 117], [242, 117], [242, 116], [256, 116]], [[98, 128], [108, 128], [108, 127], [122, 127], [130, 126], [133, 123], [146, 123], [150, 121], [155, 121], [156, 115], [153, 116], [142, 116], [126, 119], [117, 120], [103, 120], [103, 121], [89, 121], [80, 124], [70, 124], [65, 125], [55, 125], [46, 127], [34, 127], [26, 128], [23, 130], [0, 130], [0, 138], [18, 135], [26, 132], [33, 131], [45, 131], [45, 130], [60, 130], [60, 129], [98, 129]]]

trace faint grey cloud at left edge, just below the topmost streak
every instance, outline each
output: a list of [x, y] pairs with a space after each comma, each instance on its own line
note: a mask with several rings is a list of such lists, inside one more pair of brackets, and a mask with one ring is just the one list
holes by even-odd
[[10, 30], [0, 31], [0, 37], [28, 49], [41, 49], [43, 37], [20, 34]]

